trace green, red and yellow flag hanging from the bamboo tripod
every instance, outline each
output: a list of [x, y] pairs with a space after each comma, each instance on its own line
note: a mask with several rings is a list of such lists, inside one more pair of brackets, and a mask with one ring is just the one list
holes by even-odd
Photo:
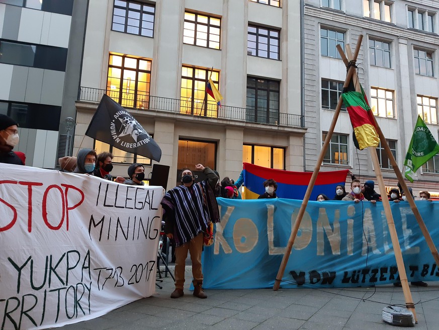
[[347, 91], [343, 91], [341, 97], [354, 128], [358, 148], [363, 150], [367, 147], [377, 147], [380, 138], [375, 128], [374, 114], [371, 111], [363, 87], [361, 87], [361, 92], [350, 90], [348, 87]]

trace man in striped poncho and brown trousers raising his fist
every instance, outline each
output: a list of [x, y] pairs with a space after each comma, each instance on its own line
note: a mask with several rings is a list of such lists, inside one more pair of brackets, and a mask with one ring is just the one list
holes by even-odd
[[197, 171], [203, 171], [207, 179], [194, 183], [191, 170], [182, 172], [182, 185], [170, 189], [163, 197], [161, 205], [164, 210], [164, 231], [175, 242], [175, 290], [171, 298], [184, 295], [185, 260], [191, 253], [194, 296], [207, 298], [203, 290], [203, 273], [201, 252], [203, 250], [204, 232], [210, 222], [219, 219], [218, 204], [214, 188], [218, 176], [209, 167], [195, 165]]

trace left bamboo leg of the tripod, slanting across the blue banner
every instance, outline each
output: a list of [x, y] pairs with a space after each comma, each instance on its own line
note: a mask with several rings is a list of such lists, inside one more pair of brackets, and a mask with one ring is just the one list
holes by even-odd
[[[355, 62], [357, 61], [362, 40], [363, 40], [363, 35], [360, 35], [357, 41], [357, 48], [355, 50], [354, 58], [352, 60], [353, 64], [355, 64]], [[355, 73], [355, 65], [350, 65], [349, 69], [347, 70], [346, 79], [344, 80], [343, 88], [349, 85], [350, 79], [352, 78], [354, 73]], [[312, 173], [311, 179], [309, 180], [308, 188], [306, 189], [305, 196], [303, 197], [303, 201], [302, 201], [302, 205], [300, 206], [299, 213], [297, 214], [296, 222], [294, 223], [293, 229], [291, 230], [291, 235], [290, 238], [288, 239], [286, 251], [284, 253], [284, 257], [282, 258], [281, 266], [279, 267], [278, 275], [276, 276], [273, 290], [278, 290], [279, 286], [281, 285], [282, 277], [284, 276], [285, 268], [287, 267], [288, 258], [290, 257], [294, 240], [296, 239], [297, 232], [299, 231], [300, 223], [302, 222], [303, 215], [305, 214], [305, 209], [306, 206], [308, 205], [312, 188], [314, 187], [315, 181], [317, 179], [317, 174], [320, 170], [320, 165], [323, 162], [323, 157], [326, 153], [326, 150], [328, 149], [329, 142], [331, 141], [332, 133], [334, 132], [335, 124], [337, 123], [337, 119], [340, 113], [342, 103], [343, 103], [343, 99], [341, 98], [340, 95], [340, 97], [338, 98], [337, 107], [335, 108], [334, 117], [332, 118], [331, 125], [326, 135], [325, 142], [323, 143], [322, 150], [320, 151], [320, 155], [317, 159], [316, 166], [314, 167], [314, 172]]]

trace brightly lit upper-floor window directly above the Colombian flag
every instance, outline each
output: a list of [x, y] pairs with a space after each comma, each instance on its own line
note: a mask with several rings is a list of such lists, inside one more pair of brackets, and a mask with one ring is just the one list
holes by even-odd
[[220, 49], [220, 27], [219, 18], [186, 12], [183, 42]]

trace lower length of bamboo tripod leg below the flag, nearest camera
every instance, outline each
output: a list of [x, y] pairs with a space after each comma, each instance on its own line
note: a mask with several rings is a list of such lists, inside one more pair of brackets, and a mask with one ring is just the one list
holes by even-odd
[[[374, 164], [374, 171], [377, 176], [378, 186], [380, 191], [386, 191], [386, 186], [383, 180], [383, 174], [381, 173], [380, 162], [378, 160], [377, 150], [375, 147], [368, 147], [372, 163]], [[383, 198], [384, 213], [386, 214], [387, 225], [389, 226], [390, 238], [392, 239], [393, 251], [395, 252], [396, 266], [398, 267], [399, 278], [402, 285], [402, 291], [405, 298], [405, 306], [409, 309], [415, 318], [416, 311], [414, 308], [413, 298], [411, 296], [410, 288], [407, 282], [407, 274], [405, 273], [404, 260], [402, 259], [401, 247], [399, 245], [398, 234], [396, 233], [395, 222], [393, 221], [392, 211], [390, 210], [390, 203], [387, 198]]]

